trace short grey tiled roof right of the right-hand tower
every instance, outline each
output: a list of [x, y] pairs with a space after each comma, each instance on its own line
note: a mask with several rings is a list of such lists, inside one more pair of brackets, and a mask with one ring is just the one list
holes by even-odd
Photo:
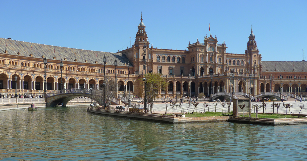
[[[307, 62], [274, 62], [262, 61], [262, 72], [307, 72]], [[294, 71], [293, 71], [294, 69]]]

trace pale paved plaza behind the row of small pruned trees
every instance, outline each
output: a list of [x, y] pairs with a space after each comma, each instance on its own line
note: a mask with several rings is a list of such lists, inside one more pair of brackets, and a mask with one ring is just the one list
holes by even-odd
[[[203, 105], [204, 102], [200, 102], [199, 105], [197, 106], [197, 111], [198, 112], [204, 112], [204, 105]], [[271, 104], [273, 104], [273, 102], [270, 102]], [[267, 113], [272, 113], [273, 112], [273, 109], [271, 108], [270, 106], [270, 103], [268, 103], [266, 105], [266, 112]], [[286, 108], [282, 106], [282, 102], [276, 102], [276, 103], [281, 103], [281, 106], [280, 108], [278, 108], [278, 113], [285, 113], [286, 114]], [[307, 115], [307, 102], [284, 102], [284, 103], [290, 103], [293, 105], [293, 107], [291, 107], [291, 112], [294, 113], [294, 114], [298, 114], [299, 111], [301, 110], [298, 106], [299, 105], [305, 105], [305, 107], [301, 110], [301, 114], [305, 114]], [[209, 102], [210, 106], [209, 106], [209, 111], [215, 111], [215, 107], [214, 107], [214, 104], [216, 103], [213, 103], [213, 102]], [[253, 104], [258, 104], [260, 105], [261, 103], [256, 103], [256, 102], [252, 102], [252, 105]], [[153, 113], [156, 112], [156, 113], [165, 113], [165, 108], [166, 108], [166, 105], [165, 103], [155, 103], [153, 104]], [[187, 103], [183, 103], [182, 106], [181, 106], [181, 109], [186, 113], [187, 111], [189, 112], [192, 112], [193, 110], [195, 111], [194, 109], [194, 106], [191, 106], [188, 108], [188, 104]], [[216, 112], [222, 112], [222, 105], [221, 103], [218, 103], [218, 105], [216, 106]], [[174, 113], [176, 113], [176, 107], [174, 107], [174, 109], [172, 109], [172, 107], [170, 106], [170, 104], [168, 103], [168, 106], [167, 106], [167, 113], [172, 113], [172, 111], [174, 110]], [[230, 106], [230, 111], [232, 110], [232, 102], [231, 102], [231, 106]], [[277, 110], [276, 110], [276, 107], [274, 108], [275, 110], [275, 113], [277, 113]], [[205, 111], [208, 111], [208, 108], [206, 108]], [[254, 110], [252, 110], [253, 112]], [[223, 112], [228, 112], [228, 106], [226, 105], [223, 109]], [[259, 112], [263, 112], [262, 108], [259, 109]], [[181, 111], [180, 111], [180, 107], [178, 106], [177, 107], [177, 114], [180, 114]], [[289, 114], [289, 108], [287, 109], [287, 113]]]

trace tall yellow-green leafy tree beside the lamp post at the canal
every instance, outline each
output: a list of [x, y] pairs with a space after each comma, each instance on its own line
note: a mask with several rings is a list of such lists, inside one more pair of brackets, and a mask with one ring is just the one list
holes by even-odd
[[[149, 111], [152, 112], [153, 102], [157, 97], [157, 93], [161, 89], [165, 89], [166, 81], [161, 77], [159, 73], [146, 74], [145, 78], [146, 78], [147, 103], [149, 104]], [[144, 81], [142, 81], [142, 84], [144, 85]]]

